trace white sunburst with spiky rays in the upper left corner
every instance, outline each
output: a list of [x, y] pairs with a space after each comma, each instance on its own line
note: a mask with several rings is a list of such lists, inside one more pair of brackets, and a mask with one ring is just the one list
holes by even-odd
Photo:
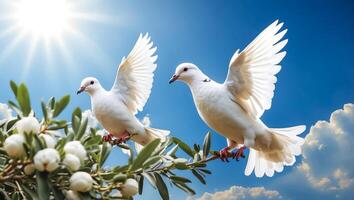
[[[0, 62], [10, 58], [16, 48], [22, 48], [27, 44], [27, 54], [21, 59], [24, 62], [23, 77], [28, 75], [32, 62], [37, 58], [44, 59], [48, 63], [44, 72], [56, 70], [53, 66], [57, 66], [59, 61], [59, 63], [65, 63], [64, 69], [68, 74], [75, 73], [78, 66], [75, 65], [74, 52], [71, 50], [72, 46], [77, 44], [82, 46], [82, 51], [87, 52], [93, 62], [108, 61], [109, 59], [99, 45], [88, 38], [84, 32], [78, 30], [81, 22], [111, 23], [113, 21], [112, 17], [104, 14], [85, 11], [85, 8], [96, 7], [92, 6], [92, 3], [100, 2], [90, 0], [0, 2], [0, 39], [9, 40], [8, 44], [0, 50]], [[77, 41], [75, 44], [67, 42], [73, 38]], [[44, 52], [45, 56], [37, 57], [36, 54], [39, 52]]]

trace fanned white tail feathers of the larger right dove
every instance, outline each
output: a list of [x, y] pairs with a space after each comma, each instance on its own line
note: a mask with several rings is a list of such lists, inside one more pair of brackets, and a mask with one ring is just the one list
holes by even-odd
[[269, 148], [262, 151], [250, 149], [245, 175], [250, 175], [254, 170], [256, 177], [263, 177], [264, 174], [272, 177], [274, 172], [282, 172], [284, 166], [293, 165], [304, 143], [304, 139], [297, 135], [305, 129], [305, 126], [270, 128], [272, 142]]

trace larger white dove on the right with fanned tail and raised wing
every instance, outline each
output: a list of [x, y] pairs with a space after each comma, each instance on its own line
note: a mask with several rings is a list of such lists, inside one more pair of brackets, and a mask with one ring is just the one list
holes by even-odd
[[180, 64], [170, 80], [181, 80], [189, 86], [200, 117], [227, 138], [228, 146], [220, 151], [221, 159], [227, 158], [235, 147], [239, 147], [234, 155], [237, 159], [245, 148], [250, 149], [247, 176], [253, 170], [257, 177], [271, 177], [274, 171], [283, 171], [284, 165], [295, 163], [304, 142], [297, 135], [305, 131], [305, 126], [268, 128], [260, 120], [271, 107], [275, 75], [286, 54], [280, 52], [287, 43], [280, 41], [287, 31], [278, 33], [282, 26], [275, 21], [241, 53], [237, 50], [222, 84], [209, 79], [191, 63]]

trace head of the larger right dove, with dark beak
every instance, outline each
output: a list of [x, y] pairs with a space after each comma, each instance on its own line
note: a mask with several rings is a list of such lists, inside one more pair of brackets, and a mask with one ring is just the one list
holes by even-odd
[[201, 77], [205, 77], [205, 75], [196, 65], [192, 63], [182, 63], [177, 66], [175, 74], [172, 76], [169, 83], [173, 83], [176, 80], [191, 83], [193, 80]]

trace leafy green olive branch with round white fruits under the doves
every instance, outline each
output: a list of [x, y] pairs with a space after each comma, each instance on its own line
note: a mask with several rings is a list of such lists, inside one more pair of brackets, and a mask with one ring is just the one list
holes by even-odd
[[[57, 119], [69, 104], [69, 95], [59, 100], [52, 97], [48, 102], [42, 101], [43, 117], [36, 122], [39, 129], [25, 131], [23, 141], [17, 145], [14, 136], [22, 137], [19, 137], [19, 124], [31, 119], [33, 123], [27, 126], [36, 127], [38, 115], [31, 107], [26, 85], [11, 81], [10, 87], [16, 101], [9, 101], [8, 106], [15, 111], [16, 117], [0, 124], [0, 199], [133, 199], [134, 195], [143, 194], [146, 182], [158, 190], [164, 200], [169, 199], [167, 182], [194, 195], [195, 191], [190, 187], [192, 181], [179, 172], [190, 171], [200, 183], [206, 184], [205, 177], [211, 174], [207, 163], [219, 158], [217, 151], [210, 150], [210, 133], [206, 134], [202, 145], [194, 144], [193, 148], [176, 137], [156, 139], [140, 152], [127, 144], [104, 142], [98, 134], [99, 129], [88, 126], [88, 119], [83, 117], [80, 108], [74, 109], [70, 121]], [[50, 147], [52, 139], [55, 145]], [[11, 141], [14, 142], [12, 146]], [[79, 155], [69, 152], [66, 146], [73, 141], [83, 147], [85, 158], [78, 159]], [[130, 151], [127, 164], [106, 167], [105, 162], [115, 146]], [[48, 150], [50, 148], [52, 150]], [[180, 150], [187, 158], [177, 156], [181, 154]], [[46, 155], [56, 154], [57, 160], [43, 161]], [[68, 154], [75, 155], [70, 157]], [[80, 184], [81, 178], [88, 181]]]

